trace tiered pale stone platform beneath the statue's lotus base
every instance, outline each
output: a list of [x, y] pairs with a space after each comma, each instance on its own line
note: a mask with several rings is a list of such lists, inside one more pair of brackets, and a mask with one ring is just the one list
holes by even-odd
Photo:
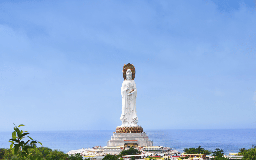
[[147, 133], [117, 133], [114, 132], [111, 139], [107, 141], [108, 147], [124, 146], [153, 146], [153, 141], [148, 139]]

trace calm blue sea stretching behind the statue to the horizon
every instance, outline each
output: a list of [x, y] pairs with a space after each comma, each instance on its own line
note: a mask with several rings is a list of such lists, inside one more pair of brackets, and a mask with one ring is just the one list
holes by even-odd
[[[147, 136], [156, 146], [184, 148], [202, 146], [214, 151], [222, 149], [225, 154], [238, 153], [240, 148], [249, 149], [256, 144], [256, 129], [193, 129], [193, 130], [147, 130]], [[70, 150], [94, 146], [106, 146], [113, 130], [99, 131], [32, 131], [29, 136], [43, 146], [67, 153]], [[0, 132], [0, 148], [9, 148], [12, 132]], [[26, 140], [26, 139], [25, 139]], [[41, 146], [40, 144], [38, 146]]]

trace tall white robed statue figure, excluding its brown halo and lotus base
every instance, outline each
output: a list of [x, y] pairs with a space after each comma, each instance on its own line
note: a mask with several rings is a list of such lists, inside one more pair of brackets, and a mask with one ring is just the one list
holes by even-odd
[[[132, 91], [132, 92], [131, 92]], [[138, 126], [138, 117], [136, 112], [137, 88], [134, 80], [132, 80], [132, 71], [127, 69], [126, 78], [121, 87], [122, 95], [122, 114], [120, 120], [121, 127]]]

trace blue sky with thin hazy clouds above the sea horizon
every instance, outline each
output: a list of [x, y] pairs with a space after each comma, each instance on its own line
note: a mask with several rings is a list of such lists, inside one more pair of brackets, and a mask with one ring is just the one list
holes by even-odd
[[127, 63], [144, 130], [256, 128], [255, 5], [0, 1], [0, 131], [114, 131]]

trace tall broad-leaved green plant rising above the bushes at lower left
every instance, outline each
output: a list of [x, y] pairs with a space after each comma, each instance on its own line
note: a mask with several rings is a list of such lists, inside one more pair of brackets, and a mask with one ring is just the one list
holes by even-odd
[[[13, 123], [14, 124], [14, 123]], [[22, 139], [25, 138], [26, 135], [29, 133], [27, 131], [22, 131], [18, 127], [24, 126], [23, 124], [19, 125], [18, 127], [14, 124], [14, 131], [12, 132], [12, 138], [9, 140], [12, 144], [10, 145], [10, 149], [12, 149], [12, 154], [14, 156], [17, 156], [18, 160], [41, 160], [41, 157], [36, 155], [32, 156], [29, 152], [29, 149], [34, 149], [35, 152], [37, 153], [37, 148], [36, 146], [33, 146], [33, 144], [36, 144], [37, 142], [34, 141], [31, 137], [27, 136], [30, 138], [32, 141], [29, 144], [28, 140], [27, 142], [24, 142]], [[26, 133], [27, 132], [27, 133]], [[21, 141], [22, 140], [22, 141]], [[40, 143], [40, 142], [38, 142]], [[40, 143], [42, 145], [42, 143]]]

